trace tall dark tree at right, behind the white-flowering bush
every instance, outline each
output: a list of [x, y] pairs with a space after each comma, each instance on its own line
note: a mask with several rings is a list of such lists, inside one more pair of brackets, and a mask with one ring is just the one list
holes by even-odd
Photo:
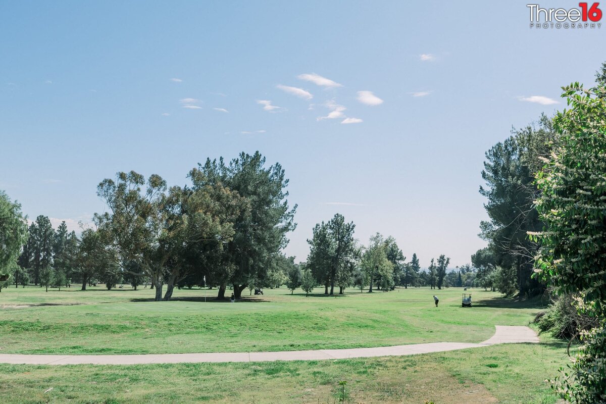
[[482, 171], [486, 185], [480, 193], [487, 198], [484, 208], [490, 220], [481, 223], [481, 237], [488, 241], [496, 266], [506, 268], [505, 273], [513, 268], [516, 290], [524, 296], [544, 290], [531, 279], [537, 244], [526, 232], [541, 230], [533, 206], [534, 173], [542, 165], [541, 157], [548, 156], [558, 142], [551, 119], [543, 115], [534, 124], [512, 130], [508, 139], [488, 150]]

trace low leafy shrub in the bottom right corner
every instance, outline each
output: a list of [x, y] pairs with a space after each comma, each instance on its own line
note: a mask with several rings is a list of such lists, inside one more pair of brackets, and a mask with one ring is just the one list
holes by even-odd
[[581, 339], [584, 345], [551, 387], [571, 403], [606, 403], [606, 324], [582, 331]]

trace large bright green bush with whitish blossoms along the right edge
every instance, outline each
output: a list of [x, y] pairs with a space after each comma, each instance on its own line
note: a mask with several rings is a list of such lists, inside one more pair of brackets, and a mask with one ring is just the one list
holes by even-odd
[[536, 174], [545, 227], [528, 236], [541, 243], [536, 274], [559, 294], [581, 294], [601, 324], [581, 334], [584, 345], [552, 386], [573, 403], [606, 403], [606, 87], [563, 90], [570, 109], [554, 118], [561, 147]]

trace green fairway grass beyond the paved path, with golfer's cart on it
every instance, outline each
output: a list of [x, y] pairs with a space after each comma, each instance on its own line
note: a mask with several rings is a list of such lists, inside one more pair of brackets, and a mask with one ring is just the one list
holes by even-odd
[[[171, 302], [150, 302], [148, 289], [50, 290], [33, 286], [0, 293], [2, 353], [193, 353], [355, 348], [422, 342], [481, 342], [494, 325], [527, 325], [534, 302], [512, 302], [461, 288], [396, 289], [338, 297], [290, 295], [285, 288], [213, 300], [208, 291], [177, 290]], [[440, 306], [433, 305], [434, 293]], [[229, 294], [229, 291], [228, 293]]]

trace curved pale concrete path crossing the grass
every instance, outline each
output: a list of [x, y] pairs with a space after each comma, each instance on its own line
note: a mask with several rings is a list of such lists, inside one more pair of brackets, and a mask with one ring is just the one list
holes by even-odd
[[266, 362], [272, 360], [347, 359], [374, 356], [404, 356], [431, 352], [479, 348], [498, 343], [539, 342], [534, 331], [526, 326], [496, 325], [496, 332], [481, 343], [431, 342], [378, 348], [318, 349], [315, 351], [221, 352], [205, 354], [144, 354], [144, 355], [22, 355], [0, 354], [0, 363], [29, 365], [139, 365], [144, 363], [194, 362]]

